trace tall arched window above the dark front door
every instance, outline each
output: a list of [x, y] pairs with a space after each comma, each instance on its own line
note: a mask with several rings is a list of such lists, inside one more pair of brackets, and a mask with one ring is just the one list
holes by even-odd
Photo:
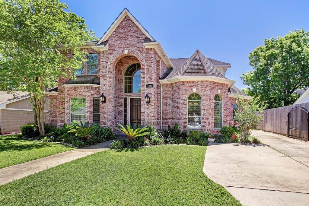
[[141, 64], [131, 64], [125, 70], [124, 93], [141, 93]]

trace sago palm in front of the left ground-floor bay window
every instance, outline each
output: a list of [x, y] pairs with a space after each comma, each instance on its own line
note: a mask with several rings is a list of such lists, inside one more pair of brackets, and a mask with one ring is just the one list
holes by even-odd
[[84, 124], [81, 121], [80, 125], [72, 122], [72, 124], [67, 125], [66, 128], [70, 129], [68, 133], [75, 133], [75, 136], [81, 136], [82, 140], [86, 141], [87, 139], [91, 139], [90, 133], [97, 127], [99, 127], [99, 124], [92, 123], [89, 126], [89, 121], [85, 122]]

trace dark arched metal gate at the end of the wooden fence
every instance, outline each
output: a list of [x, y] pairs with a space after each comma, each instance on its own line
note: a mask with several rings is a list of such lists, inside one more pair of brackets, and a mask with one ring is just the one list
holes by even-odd
[[309, 141], [309, 113], [302, 108], [293, 108], [288, 112], [288, 136]]

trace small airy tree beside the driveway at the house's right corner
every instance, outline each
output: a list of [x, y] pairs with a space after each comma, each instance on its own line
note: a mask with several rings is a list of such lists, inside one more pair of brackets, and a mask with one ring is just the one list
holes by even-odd
[[252, 98], [246, 102], [238, 94], [236, 96], [238, 108], [235, 110], [234, 120], [239, 124], [240, 138], [247, 138], [251, 130], [256, 129], [263, 120], [262, 112], [267, 105], [259, 98]]

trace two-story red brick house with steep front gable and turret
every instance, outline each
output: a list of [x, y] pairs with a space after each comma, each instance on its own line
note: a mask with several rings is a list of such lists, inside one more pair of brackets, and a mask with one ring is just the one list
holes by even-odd
[[89, 55], [76, 79], [60, 77], [58, 88], [47, 92], [53, 102], [49, 123], [58, 127], [81, 120], [112, 128], [124, 123], [165, 129], [177, 123], [181, 130], [218, 133], [223, 125], [234, 124], [236, 94], [250, 98], [225, 77], [229, 63], [199, 50], [190, 58], [168, 58], [127, 9], [99, 41], [80, 48]]

